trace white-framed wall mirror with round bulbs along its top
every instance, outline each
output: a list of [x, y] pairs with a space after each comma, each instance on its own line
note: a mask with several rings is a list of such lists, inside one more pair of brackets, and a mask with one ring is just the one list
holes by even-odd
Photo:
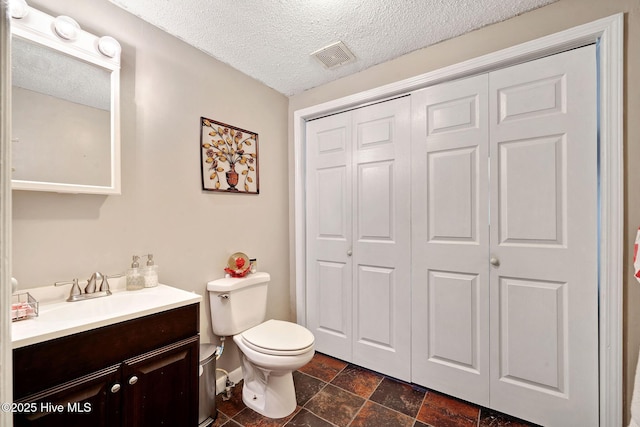
[[120, 194], [120, 45], [24, 0], [11, 14], [12, 188]]

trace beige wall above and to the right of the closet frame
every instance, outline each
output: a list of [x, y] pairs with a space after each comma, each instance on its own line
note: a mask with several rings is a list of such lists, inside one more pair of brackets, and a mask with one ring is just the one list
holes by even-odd
[[[616, 13], [625, 13], [625, 283], [624, 378], [625, 420], [631, 400], [640, 346], [640, 284], [633, 278], [631, 251], [640, 225], [640, 3], [637, 0], [559, 0], [508, 21], [404, 55], [356, 75], [289, 99], [289, 155], [292, 162], [293, 112], [398, 80], [437, 70]], [[290, 180], [290, 188], [293, 182]], [[290, 192], [290, 207], [293, 205]], [[293, 230], [291, 230], [293, 238]], [[293, 242], [293, 240], [292, 240]], [[291, 243], [292, 244], [292, 243]], [[293, 244], [292, 244], [293, 245]], [[292, 257], [293, 259], [293, 257]], [[292, 264], [293, 271], [293, 264]], [[292, 275], [293, 277], [293, 275]], [[295, 283], [292, 281], [292, 288]], [[626, 425], [626, 421], [625, 421]]]

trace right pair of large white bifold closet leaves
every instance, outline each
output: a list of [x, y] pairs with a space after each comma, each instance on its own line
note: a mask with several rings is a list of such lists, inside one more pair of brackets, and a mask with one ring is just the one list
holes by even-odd
[[413, 381], [597, 426], [594, 46], [412, 95]]

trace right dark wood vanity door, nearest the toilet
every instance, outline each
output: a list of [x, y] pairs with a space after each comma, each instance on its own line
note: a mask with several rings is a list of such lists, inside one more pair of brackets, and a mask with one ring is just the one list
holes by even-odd
[[197, 336], [126, 360], [125, 427], [198, 425]]

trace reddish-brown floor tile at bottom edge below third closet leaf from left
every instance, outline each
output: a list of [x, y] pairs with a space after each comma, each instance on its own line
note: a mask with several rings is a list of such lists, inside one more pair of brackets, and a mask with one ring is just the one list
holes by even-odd
[[437, 427], [476, 427], [480, 408], [436, 392], [427, 392], [418, 420]]

